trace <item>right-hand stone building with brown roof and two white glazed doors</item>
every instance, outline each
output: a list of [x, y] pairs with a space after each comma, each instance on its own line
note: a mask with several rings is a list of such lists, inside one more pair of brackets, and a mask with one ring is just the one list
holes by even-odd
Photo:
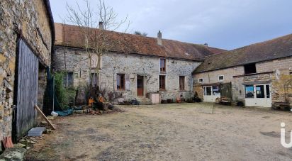
[[222, 96], [245, 106], [288, 106], [292, 102], [292, 35], [209, 55], [193, 71], [203, 101]]

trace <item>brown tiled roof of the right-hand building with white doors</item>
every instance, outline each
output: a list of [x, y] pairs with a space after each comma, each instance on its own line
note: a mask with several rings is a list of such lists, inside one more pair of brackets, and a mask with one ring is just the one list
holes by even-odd
[[292, 56], [292, 34], [206, 57], [193, 72], [206, 72]]

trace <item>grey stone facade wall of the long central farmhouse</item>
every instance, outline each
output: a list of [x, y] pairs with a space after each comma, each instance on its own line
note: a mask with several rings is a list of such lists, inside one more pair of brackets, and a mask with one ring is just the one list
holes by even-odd
[[[54, 69], [74, 72], [74, 87], [89, 86], [90, 70], [87, 57], [82, 50], [56, 48], [53, 56]], [[199, 62], [191, 60], [167, 59], [167, 73], [161, 74], [159, 57], [108, 53], [102, 57], [99, 86], [106, 91], [113, 91], [116, 87], [116, 74], [125, 74], [129, 79], [128, 88], [119, 92], [125, 99], [133, 99], [137, 97], [137, 75], [141, 75], [145, 80], [145, 94], [158, 91], [162, 99], [176, 99], [181, 94], [187, 99], [193, 95], [191, 72], [198, 65]], [[159, 91], [160, 74], [166, 76], [166, 91]], [[179, 91], [179, 76], [185, 76], [185, 91]]]

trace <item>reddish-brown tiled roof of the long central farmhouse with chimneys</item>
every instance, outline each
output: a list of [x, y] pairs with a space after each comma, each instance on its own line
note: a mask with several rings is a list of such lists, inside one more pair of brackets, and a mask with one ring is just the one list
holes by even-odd
[[[55, 30], [55, 45], [84, 48], [84, 36], [79, 26], [55, 23]], [[99, 29], [92, 29], [91, 31], [101, 32]], [[166, 39], [162, 39], [161, 46], [157, 45], [157, 38], [118, 33], [109, 30], [103, 30], [102, 32], [106, 32], [107, 43], [110, 44], [108, 48], [113, 52], [175, 57], [186, 60], [203, 60], [208, 55], [226, 51], [218, 48], [210, 48], [206, 45], [182, 43], [176, 40]]]

